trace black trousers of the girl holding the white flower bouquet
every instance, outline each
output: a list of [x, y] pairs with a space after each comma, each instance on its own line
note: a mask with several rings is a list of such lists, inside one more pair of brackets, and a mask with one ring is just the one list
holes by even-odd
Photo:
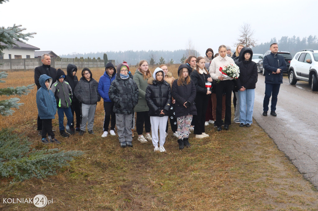
[[222, 97], [225, 93], [225, 118], [224, 124], [231, 125], [231, 98], [232, 98], [232, 86], [231, 80], [221, 80], [216, 83], [216, 96], [217, 96], [217, 126], [222, 125]]

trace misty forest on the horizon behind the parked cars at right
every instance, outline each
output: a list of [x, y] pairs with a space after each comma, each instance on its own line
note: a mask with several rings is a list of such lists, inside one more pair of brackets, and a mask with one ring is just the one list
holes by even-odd
[[272, 38], [270, 42], [261, 43], [256, 45], [253, 49], [255, 54], [264, 54], [269, 50], [270, 44], [276, 42], [278, 44], [278, 50], [289, 51], [294, 56], [298, 51], [303, 49], [318, 50], [318, 37], [309, 35], [308, 37], [299, 38], [296, 36], [288, 37], [282, 36], [280, 40]]

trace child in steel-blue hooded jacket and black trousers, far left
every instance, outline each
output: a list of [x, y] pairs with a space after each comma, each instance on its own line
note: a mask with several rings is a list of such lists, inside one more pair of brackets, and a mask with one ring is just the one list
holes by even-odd
[[[54, 94], [50, 90], [52, 78], [43, 74], [40, 75], [39, 82], [41, 87], [38, 89], [36, 99], [38, 115], [43, 121], [41, 142], [43, 144], [48, 144], [50, 141], [55, 144], [61, 144], [61, 142], [54, 137], [54, 133], [52, 131], [52, 119], [55, 118], [56, 114], [56, 100], [54, 98]], [[46, 138], [46, 133], [49, 141]]]

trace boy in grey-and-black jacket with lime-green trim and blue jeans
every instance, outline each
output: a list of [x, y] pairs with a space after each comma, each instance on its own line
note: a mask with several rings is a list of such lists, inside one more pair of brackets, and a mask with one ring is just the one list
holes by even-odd
[[[56, 82], [52, 85], [52, 92], [54, 93], [57, 110], [59, 115], [59, 131], [62, 137], [69, 137], [68, 134], [75, 133], [73, 125], [73, 114], [71, 110], [72, 103], [72, 88], [68, 82], [64, 81], [66, 75], [63, 70], [56, 71]], [[66, 132], [64, 131], [64, 113], [67, 118]], [[68, 133], [68, 134], [67, 134]]]

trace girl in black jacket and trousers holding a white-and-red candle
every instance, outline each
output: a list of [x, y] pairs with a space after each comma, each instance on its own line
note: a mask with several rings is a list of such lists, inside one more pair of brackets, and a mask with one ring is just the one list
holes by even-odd
[[205, 60], [203, 57], [199, 56], [196, 61], [196, 67], [193, 68], [191, 73], [191, 79], [196, 86], [196, 107], [197, 107], [197, 118], [194, 122], [194, 134], [196, 138], [209, 137], [205, 133], [204, 123], [205, 123], [205, 112], [208, 106], [208, 99], [210, 98], [210, 89], [205, 88], [205, 82], [212, 82], [211, 76], [207, 69], [205, 68]]

